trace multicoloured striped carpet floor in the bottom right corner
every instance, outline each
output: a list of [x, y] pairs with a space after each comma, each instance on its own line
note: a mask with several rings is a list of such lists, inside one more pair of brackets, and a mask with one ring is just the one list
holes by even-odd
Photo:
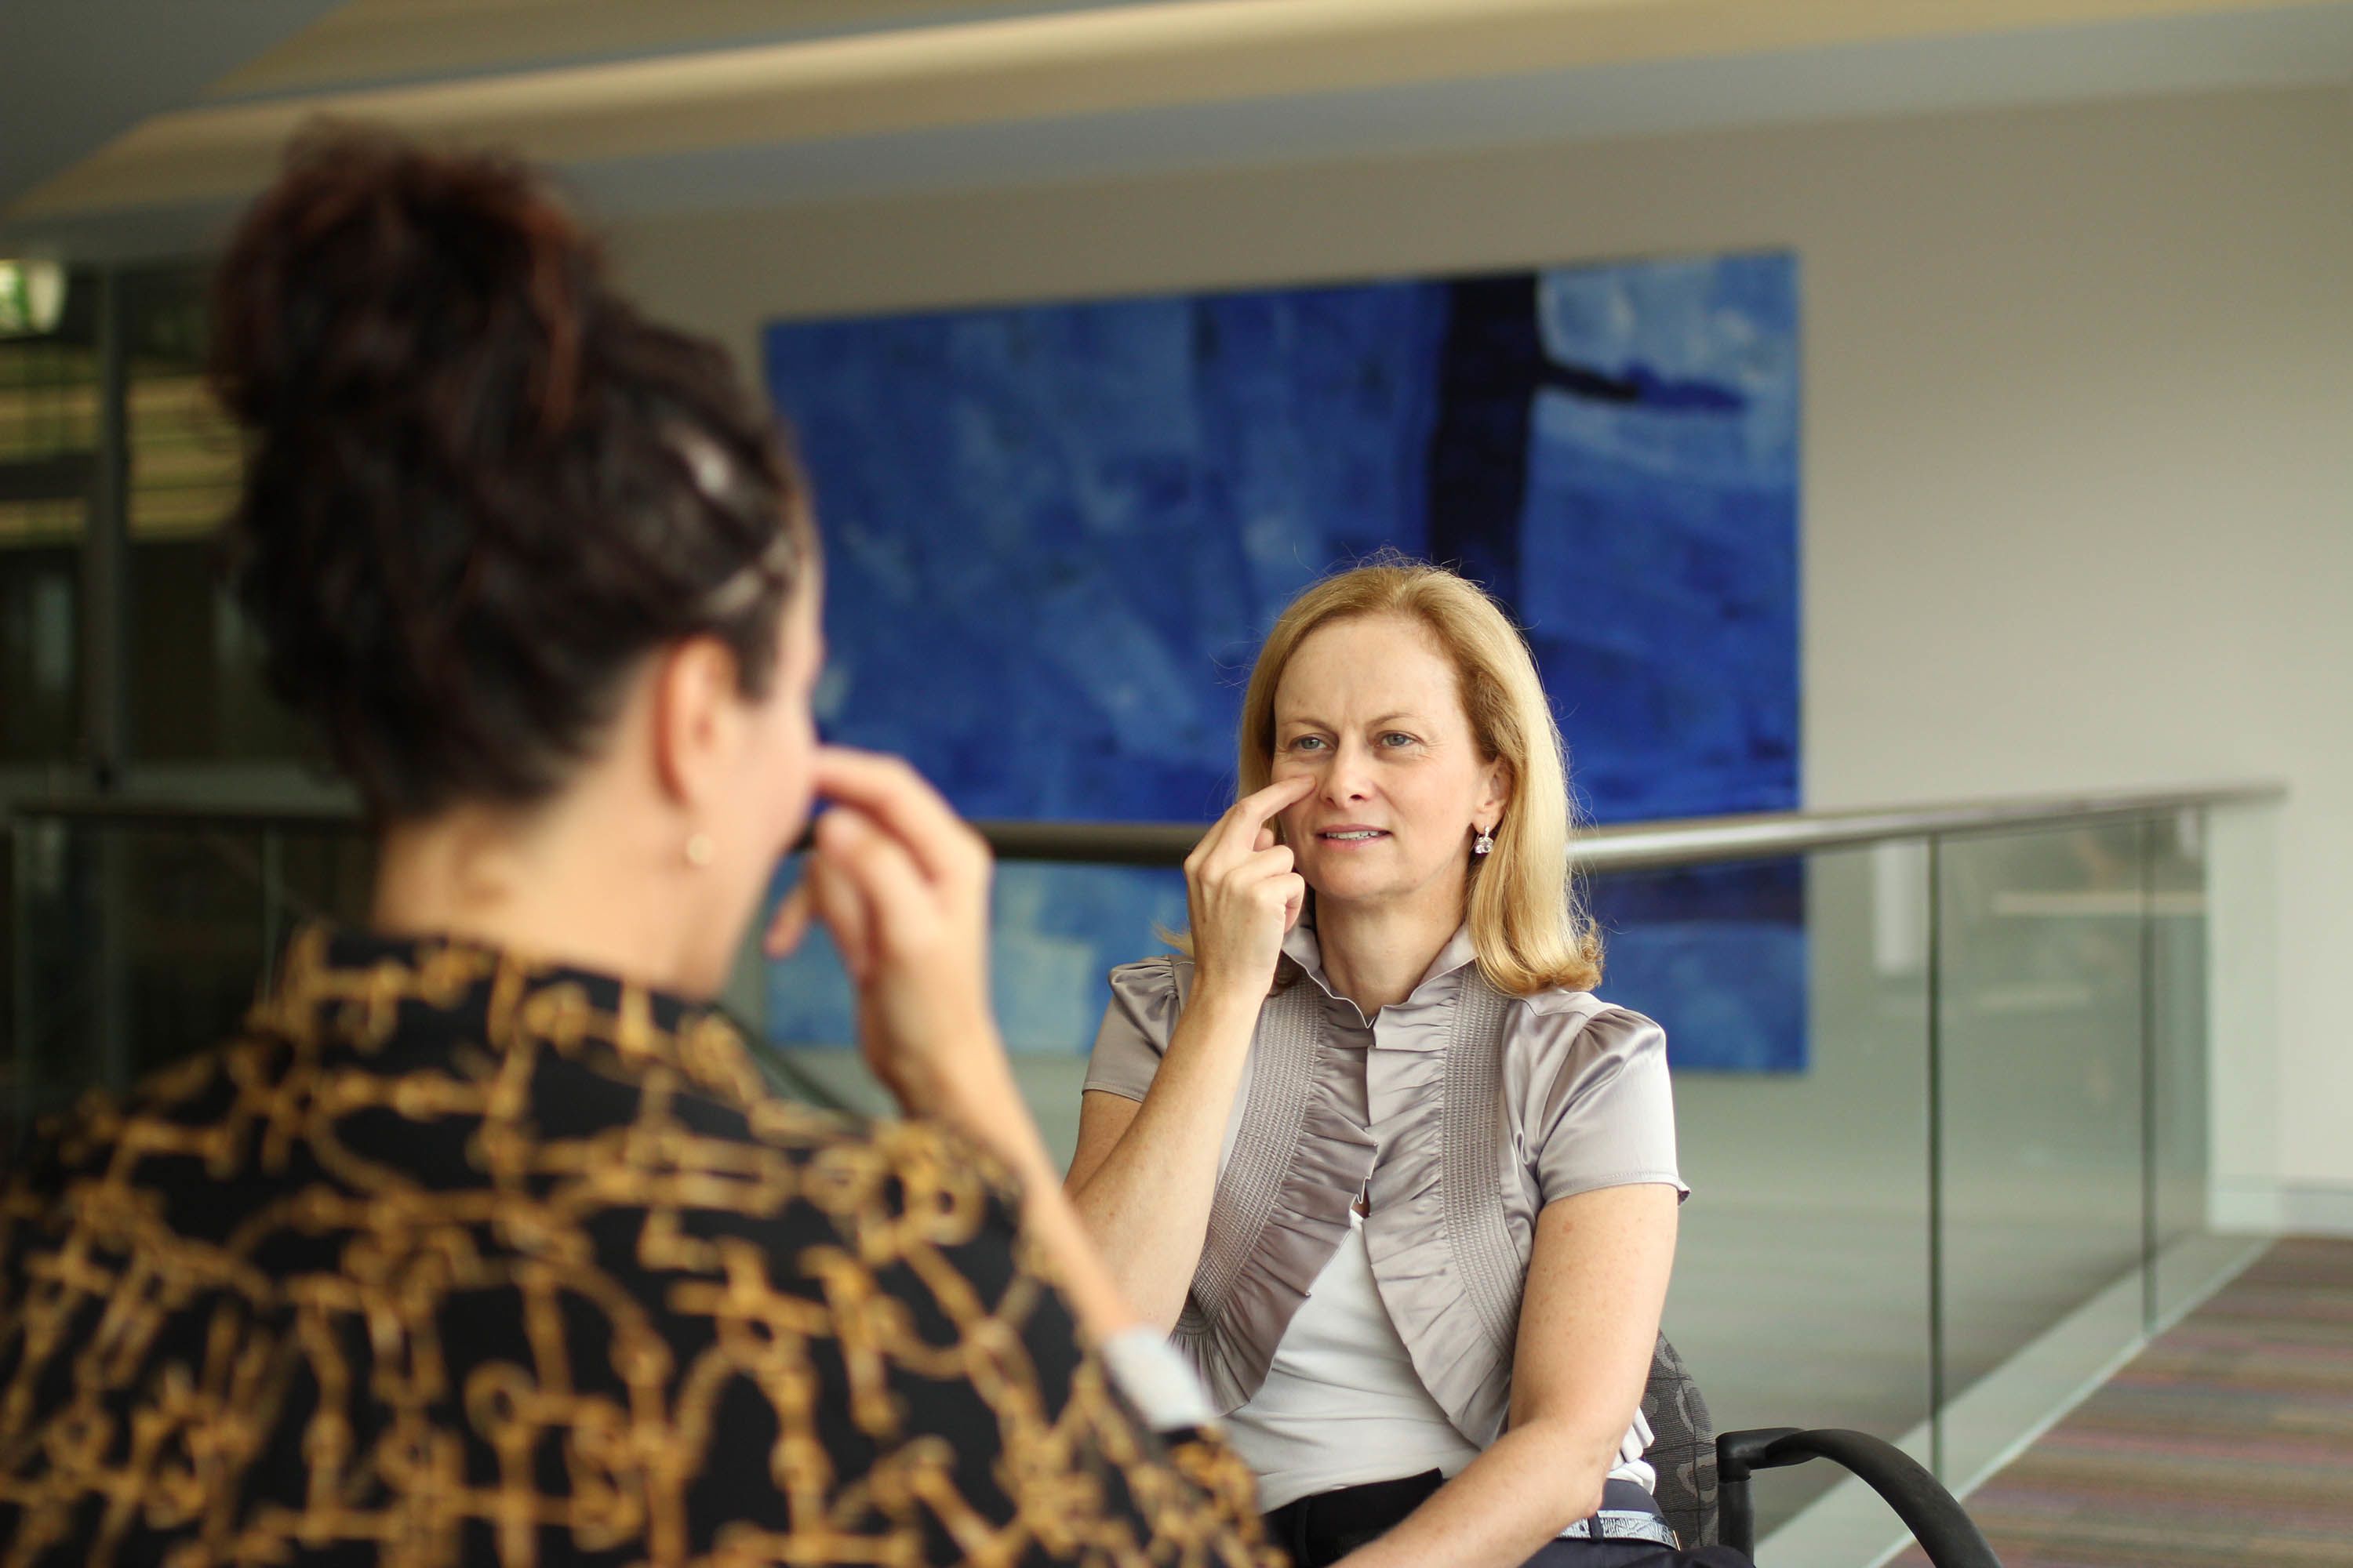
[[2273, 1246], [1969, 1514], [2005, 1568], [2353, 1566], [2353, 1241]]

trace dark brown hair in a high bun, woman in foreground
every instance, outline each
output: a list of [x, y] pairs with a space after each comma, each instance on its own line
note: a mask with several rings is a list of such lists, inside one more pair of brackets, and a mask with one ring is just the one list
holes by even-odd
[[680, 637], [765, 689], [809, 550], [774, 421], [522, 165], [296, 139], [216, 273], [212, 376], [271, 684], [379, 813], [546, 795]]

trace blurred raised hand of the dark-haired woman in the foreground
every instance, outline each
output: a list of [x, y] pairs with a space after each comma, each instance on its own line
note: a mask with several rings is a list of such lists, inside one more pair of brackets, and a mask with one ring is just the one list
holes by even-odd
[[859, 1051], [908, 1114], [998, 1098], [1012, 1070], [988, 1011], [988, 844], [896, 757], [821, 748], [816, 792], [833, 806], [767, 954], [826, 922], [859, 994]]

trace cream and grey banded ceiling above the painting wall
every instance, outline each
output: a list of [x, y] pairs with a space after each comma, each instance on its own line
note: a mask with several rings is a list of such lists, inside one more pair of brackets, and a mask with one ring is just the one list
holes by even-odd
[[2297, 82], [2353, 82], [2353, 2], [351, 0], [24, 193], [0, 247], [200, 249], [313, 113], [654, 214]]

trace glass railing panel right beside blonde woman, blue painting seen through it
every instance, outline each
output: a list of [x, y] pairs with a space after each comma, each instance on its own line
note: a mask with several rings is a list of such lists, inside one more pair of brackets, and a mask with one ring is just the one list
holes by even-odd
[[[1600, 997], [1668, 1037], [1692, 1199], [1666, 1333], [1715, 1425], [1918, 1434], [1925, 844], [1609, 875], [1593, 907], [1609, 943]], [[1760, 1528], [1833, 1481], [1828, 1467], [1774, 1472]]]

